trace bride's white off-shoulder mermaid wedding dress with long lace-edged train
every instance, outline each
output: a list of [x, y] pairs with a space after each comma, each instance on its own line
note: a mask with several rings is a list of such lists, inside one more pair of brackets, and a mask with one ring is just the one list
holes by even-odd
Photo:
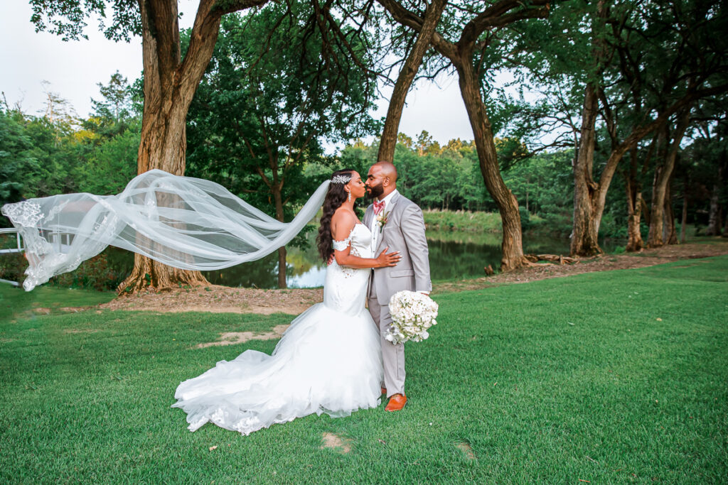
[[[372, 257], [371, 233], [357, 224], [335, 249]], [[291, 322], [272, 355], [246, 350], [182, 382], [173, 407], [189, 430], [213, 422], [247, 435], [308, 414], [348, 416], [377, 406], [382, 377], [379, 333], [365, 309], [369, 269], [326, 269], [323, 302]]]

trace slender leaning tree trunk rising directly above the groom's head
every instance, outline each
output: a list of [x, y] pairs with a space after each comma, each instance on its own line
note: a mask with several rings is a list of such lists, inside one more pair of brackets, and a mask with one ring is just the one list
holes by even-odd
[[422, 64], [422, 57], [430, 47], [430, 39], [432, 33], [435, 33], [440, 17], [443, 15], [446, 0], [432, 0], [427, 6], [424, 13], [424, 23], [422, 30], [417, 35], [414, 47], [410, 51], [405, 60], [402, 70], [397, 77], [395, 89], [392, 91], [392, 97], [389, 100], [389, 108], [387, 108], [387, 120], [384, 121], [384, 129], [381, 132], [381, 141], [379, 143], [378, 161], [392, 162], [395, 159], [395, 148], [397, 147], [397, 132], [400, 127], [400, 119], [402, 118], [402, 110], [405, 106], [405, 98], [414, 81], [414, 76]]

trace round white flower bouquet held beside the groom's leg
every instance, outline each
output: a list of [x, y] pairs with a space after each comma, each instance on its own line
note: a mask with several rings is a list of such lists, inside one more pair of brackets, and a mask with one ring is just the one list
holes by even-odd
[[397, 292], [389, 299], [389, 314], [392, 324], [384, 338], [394, 344], [400, 342], [422, 342], [430, 334], [427, 329], [438, 324], [438, 304], [427, 294], [419, 292]]

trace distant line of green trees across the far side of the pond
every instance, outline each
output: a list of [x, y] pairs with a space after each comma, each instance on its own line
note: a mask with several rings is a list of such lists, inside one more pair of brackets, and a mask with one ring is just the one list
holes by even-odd
[[[135, 176], [136, 149], [141, 136], [138, 89], [130, 86], [119, 73], [99, 87], [102, 97], [93, 100], [94, 110], [87, 119], [73, 116], [68, 102], [52, 92], [39, 116], [23, 113], [21, 106], [6, 104], [0, 108], [0, 204], [57, 193], [119, 193]], [[224, 92], [218, 95], [224, 96]], [[196, 109], [193, 104], [193, 114], [197, 113]], [[678, 151], [670, 204], [678, 228], [684, 221], [695, 225], [700, 233], [715, 235], [727, 228], [724, 223], [728, 209], [724, 184], [727, 151], [723, 137], [711, 137], [704, 126], [709, 121], [697, 124], [689, 143]], [[215, 180], [275, 216], [276, 203], [261, 184], [258, 172], [205, 148], [197, 139], [201, 128], [194, 116], [189, 124], [188, 174]], [[502, 173], [519, 201], [523, 227], [529, 227], [530, 215], [538, 215], [544, 220], [539, 231], [568, 237], [573, 211], [574, 150], [561, 148], [529, 154], [523, 151], [523, 143], [518, 140], [496, 138], [495, 144], [499, 159], [507, 161]], [[356, 140], [333, 156], [326, 156], [320, 145], [316, 147], [301, 157], [295, 177], [289, 179], [296, 191], [288, 191], [283, 207], [287, 219], [295, 215], [307, 194], [332, 170], [350, 167], [365, 174], [377, 160], [379, 138], [371, 143]], [[248, 158], [244, 163], [250, 164], [253, 160]], [[400, 173], [400, 191], [423, 209], [498, 211], [482, 183], [472, 140], [456, 139], [440, 145], [426, 131], [417, 137], [400, 133], [395, 164]], [[651, 175], [648, 171], [644, 176]], [[614, 180], [606, 201], [602, 237], [625, 241], [628, 237], [629, 211], [623, 195], [628, 188], [627, 180], [625, 176]], [[649, 214], [649, 199], [645, 206]], [[4, 218], [0, 223], [9, 225]], [[642, 220], [641, 233], [646, 237], [648, 232], [649, 219]]]

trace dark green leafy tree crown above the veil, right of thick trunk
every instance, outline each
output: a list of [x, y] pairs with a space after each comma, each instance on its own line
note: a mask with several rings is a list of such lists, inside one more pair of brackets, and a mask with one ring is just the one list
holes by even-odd
[[[270, 214], [280, 193], [290, 217], [322, 180], [306, 167], [328, 164], [323, 143], [379, 129], [367, 113], [370, 74], [314, 19], [305, 1], [223, 17], [189, 110], [188, 175], [218, 181]], [[357, 36], [347, 39], [363, 49]], [[184, 50], [189, 33], [182, 41]]]

